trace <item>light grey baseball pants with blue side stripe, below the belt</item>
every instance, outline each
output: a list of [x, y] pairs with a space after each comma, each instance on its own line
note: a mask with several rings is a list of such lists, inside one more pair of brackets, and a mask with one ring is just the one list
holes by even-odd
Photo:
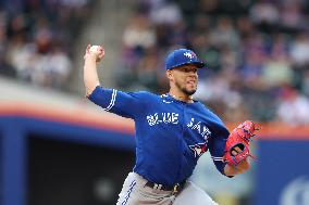
[[116, 205], [218, 205], [203, 190], [191, 181], [174, 194], [146, 187], [147, 180], [135, 172], [129, 172], [124, 181]]

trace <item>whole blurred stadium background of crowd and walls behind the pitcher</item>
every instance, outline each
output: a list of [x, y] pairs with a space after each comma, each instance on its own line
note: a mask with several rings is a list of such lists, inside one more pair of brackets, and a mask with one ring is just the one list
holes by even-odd
[[0, 204], [115, 204], [134, 125], [84, 98], [87, 43], [126, 91], [165, 93], [166, 52], [196, 51], [195, 98], [263, 130], [250, 171], [224, 178], [206, 155], [193, 180], [220, 205], [309, 204], [308, 0], [1, 0]]

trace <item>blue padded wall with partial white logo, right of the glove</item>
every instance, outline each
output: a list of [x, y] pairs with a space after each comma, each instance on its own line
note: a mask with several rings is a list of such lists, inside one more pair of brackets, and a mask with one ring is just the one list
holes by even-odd
[[309, 205], [308, 139], [260, 140], [256, 205]]

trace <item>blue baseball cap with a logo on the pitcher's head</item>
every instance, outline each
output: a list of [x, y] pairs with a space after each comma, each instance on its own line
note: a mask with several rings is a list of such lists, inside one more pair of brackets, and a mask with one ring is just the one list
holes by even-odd
[[172, 69], [185, 64], [195, 64], [198, 68], [205, 67], [205, 63], [199, 61], [191, 50], [176, 49], [168, 55], [165, 69]]

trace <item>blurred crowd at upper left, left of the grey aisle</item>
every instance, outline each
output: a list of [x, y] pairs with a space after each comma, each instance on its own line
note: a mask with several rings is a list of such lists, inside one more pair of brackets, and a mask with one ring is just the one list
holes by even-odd
[[0, 74], [63, 88], [90, 0], [1, 0]]

